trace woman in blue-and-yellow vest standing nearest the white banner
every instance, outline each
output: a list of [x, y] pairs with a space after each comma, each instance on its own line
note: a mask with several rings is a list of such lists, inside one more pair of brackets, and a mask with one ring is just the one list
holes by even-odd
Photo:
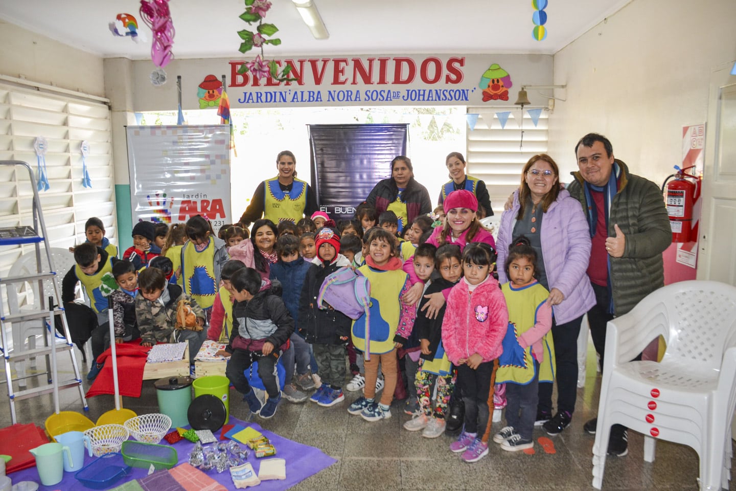
[[317, 200], [312, 188], [297, 179], [297, 158], [289, 150], [280, 152], [276, 158], [278, 175], [264, 180], [255, 189], [250, 205], [246, 208], [240, 222], [244, 226], [263, 217], [275, 224], [288, 220], [299, 222], [305, 215], [317, 211]]

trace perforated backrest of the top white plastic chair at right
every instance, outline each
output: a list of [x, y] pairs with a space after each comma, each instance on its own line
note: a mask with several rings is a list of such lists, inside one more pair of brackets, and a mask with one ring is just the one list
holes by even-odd
[[736, 287], [718, 281], [682, 281], [657, 291], [670, 318], [665, 356], [718, 370], [736, 346]]

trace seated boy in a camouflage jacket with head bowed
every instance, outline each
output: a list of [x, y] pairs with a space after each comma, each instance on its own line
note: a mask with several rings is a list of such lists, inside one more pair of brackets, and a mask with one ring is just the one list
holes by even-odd
[[181, 286], [168, 283], [160, 269], [146, 268], [138, 273], [135, 317], [138, 319], [138, 330], [141, 331], [141, 346], [171, 342], [173, 333], [175, 342], [189, 343], [189, 358], [194, 363], [194, 356], [197, 356], [207, 331], [176, 329], [177, 305], [180, 300], [189, 300], [191, 309], [197, 316], [197, 325], [205, 325], [205, 312], [202, 308], [183, 292]]

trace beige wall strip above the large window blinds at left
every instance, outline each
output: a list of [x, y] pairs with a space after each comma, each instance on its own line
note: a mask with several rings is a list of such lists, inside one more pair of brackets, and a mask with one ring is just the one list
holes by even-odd
[[105, 96], [102, 57], [0, 20], [0, 74]]

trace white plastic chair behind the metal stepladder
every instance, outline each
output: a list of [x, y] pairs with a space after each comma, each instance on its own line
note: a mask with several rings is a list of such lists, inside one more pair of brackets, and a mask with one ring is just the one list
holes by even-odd
[[[61, 247], [52, 247], [52, 259], [57, 270], [59, 286], [66, 275], [66, 272], [74, 265], [74, 255], [67, 249]], [[21, 255], [18, 261], [10, 267], [9, 276], [33, 275], [37, 273], [35, 252], [29, 252]], [[49, 261], [46, 259], [45, 251], [41, 250], [41, 269], [49, 271]], [[26, 311], [38, 311], [40, 308], [39, 300], [44, 300], [49, 295], [54, 294], [54, 286], [51, 278], [42, 280], [43, 292], [38, 291], [38, 281], [30, 281], [25, 283], [15, 283], [7, 286], [7, 305], [10, 314], [23, 314]], [[23, 300], [23, 297], [25, 299]], [[44, 301], [46, 305], [46, 301]], [[48, 307], [48, 305], [46, 305]], [[44, 319], [33, 319], [29, 321], [13, 322], [13, 350], [23, 351], [26, 349], [26, 340], [28, 341], [28, 349], [35, 348], [35, 336], [43, 336], [45, 328]], [[55, 331], [54, 331], [55, 332]], [[32, 358], [32, 367], [35, 367], [35, 358]], [[24, 377], [25, 361], [15, 361], [15, 370], [18, 377]], [[21, 378], [18, 384], [26, 386], [26, 381]]]

